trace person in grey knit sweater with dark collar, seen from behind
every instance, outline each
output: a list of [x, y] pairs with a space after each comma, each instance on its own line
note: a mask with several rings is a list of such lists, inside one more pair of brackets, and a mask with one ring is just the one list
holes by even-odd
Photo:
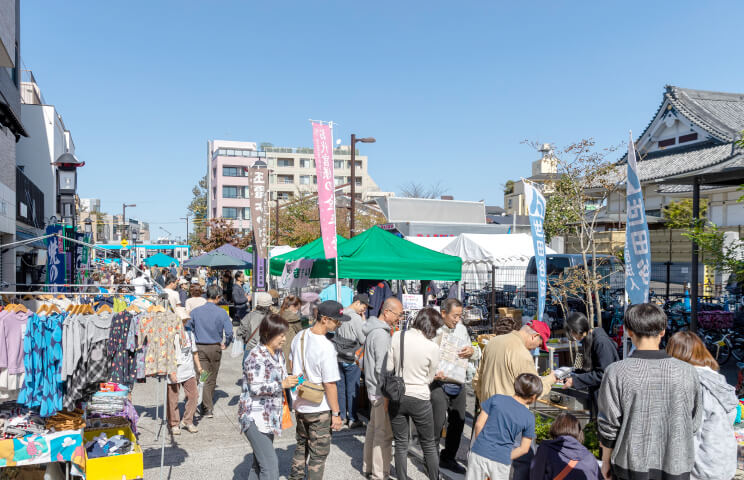
[[700, 381], [695, 367], [659, 350], [666, 325], [658, 305], [633, 305], [625, 313], [636, 350], [607, 368], [599, 389], [605, 478], [690, 478], [702, 419]]

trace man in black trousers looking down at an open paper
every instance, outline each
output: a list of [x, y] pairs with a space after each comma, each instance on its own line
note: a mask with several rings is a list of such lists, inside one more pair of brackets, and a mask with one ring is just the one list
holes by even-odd
[[[456, 298], [445, 300], [442, 304], [442, 319], [444, 325], [437, 331], [434, 342], [441, 345], [445, 335], [454, 335], [462, 343], [468, 344], [458, 352], [459, 357], [471, 361], [478, 360], [480, 349], [470, 345], [468, 329], [461, 321], [462, 302]], [[439, 466], [459, 474], [465, 474], [465, 467], [457, 463], [455, 456], [460, 448], [460, 437], [465, 427], [466, 400], [465, 385], [441, 380], [434, 380], [431, 384], [431, 407], [434, 413], [434, 436], [437, 445], [441, 441], [444, 422], [447, 421], [447, 438], [444, 449], [439, 454]]]

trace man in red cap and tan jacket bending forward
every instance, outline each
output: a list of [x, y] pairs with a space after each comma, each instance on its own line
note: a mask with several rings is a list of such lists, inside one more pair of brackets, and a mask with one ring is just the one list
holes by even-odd
[[[520, 330], [492, 338], [483, 349], [483, 357], [478, 372], [473, 379], [473, 388], [478, 401], [485, 402], [494, 395], [514, 395], [514, 381], [523, 373], [540, 373], [535, 368], [531, 351], [542, 347], [548, 349], [550, 327], [545, 322], [533, 320]], [[555, 374], [540, 377], [543, 383], [543, 396], [550, 393], [556, 382]], [[532, 452], [516, 458], [512, 462], [514, 480], [529, 478]]]

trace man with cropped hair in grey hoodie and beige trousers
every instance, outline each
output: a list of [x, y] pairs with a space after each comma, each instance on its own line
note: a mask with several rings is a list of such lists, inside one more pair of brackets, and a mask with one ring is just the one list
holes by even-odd
[[379, 317], [364, 324], [364, 383], [370, 402], [369, 423], [364, 439], [362, 473], [370, 480], [387, 480], [393, 461], [393, 430], [387, 412], [387, 399], [382, 396], [381, 379], [385, 374], [390, 331], [403, 317], [403, 305], [389, 297], [380, 308]]

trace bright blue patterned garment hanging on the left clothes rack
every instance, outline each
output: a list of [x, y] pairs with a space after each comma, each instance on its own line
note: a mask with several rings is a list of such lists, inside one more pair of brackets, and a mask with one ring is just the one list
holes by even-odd
[[65, 314], [28, 318], [23, 338], [23, 366], [26, 377], [18, 403], [39, 409], [51, 417], [62, 409], [62, 322]]

